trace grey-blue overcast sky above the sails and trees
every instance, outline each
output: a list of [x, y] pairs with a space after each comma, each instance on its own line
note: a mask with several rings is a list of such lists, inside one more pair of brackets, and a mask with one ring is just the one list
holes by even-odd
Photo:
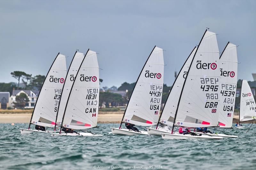
[[256, 1], [0, 1], [0, 82], [15, 70], [46, 75], [57, 53], [96, 51], [102, 86], [135, 82], [156, 45], [172, 85], [206, 27], [219, 50], [239, 45], [238, 78], [256, 73]]

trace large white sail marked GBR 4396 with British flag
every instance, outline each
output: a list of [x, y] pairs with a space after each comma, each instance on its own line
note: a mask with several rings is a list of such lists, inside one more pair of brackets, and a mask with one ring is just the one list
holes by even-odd
[[216, 34], [205, 31], [185, 80], [176, 126], [218, 125], [220, 70]]

